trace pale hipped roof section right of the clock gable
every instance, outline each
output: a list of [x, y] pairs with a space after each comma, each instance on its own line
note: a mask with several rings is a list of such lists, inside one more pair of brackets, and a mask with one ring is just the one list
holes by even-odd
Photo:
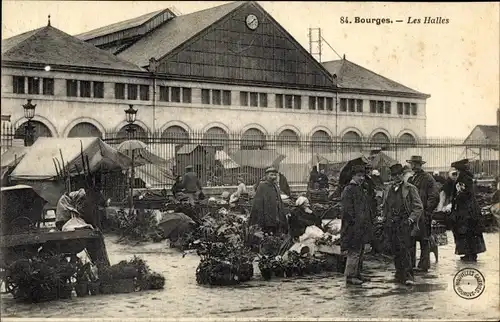
[[398, 92], [429, 97], [427, 94], [390, 80], [345, 58], [323, 62], [322, 65], [330, 74], [337, 75], [337, 82], [340, 88]]

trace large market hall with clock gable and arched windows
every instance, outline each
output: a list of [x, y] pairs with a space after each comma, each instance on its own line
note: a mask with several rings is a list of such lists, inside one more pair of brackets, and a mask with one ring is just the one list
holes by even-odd
[[345, 58], [320, 64], [258, 3], [233, 2], [75, 37], [49, 22], [2, 40], [2, 114], [19, 135], [28, 98], [36, 135], [125, 136], [133, 104], [140, 136], [198, 132], [266, 148], [273, 135], [417, 142], [429, 95]]

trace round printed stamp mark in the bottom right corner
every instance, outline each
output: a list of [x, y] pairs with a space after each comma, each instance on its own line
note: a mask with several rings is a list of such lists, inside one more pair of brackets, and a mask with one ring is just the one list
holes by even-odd
[[484, 275], [475, 268], [462, 268], [453, 277], [453, 290], [463, 299], [473, 300], [483, 294]]

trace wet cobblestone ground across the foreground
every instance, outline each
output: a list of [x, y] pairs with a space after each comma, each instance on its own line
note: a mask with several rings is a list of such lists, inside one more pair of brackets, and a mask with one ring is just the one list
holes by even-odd
[[[133, 294], [102, 295], [51, 303], [21, 305], [2, 296], [3, 317], [37, 318], [415, 318], [486, 320], [500, 318], [499, 236], [486, 234], [487, 253], [476, 264], [458, 261], [453, 236], [440, 247], [439, 263], [413, 287], [393, 282], [393, 265], [381, 260], [366, 263], [371, 281], [346, 287], [340, 274], [253, 281], [234, 288], [209, 288], [196, 284], [195, 255], [182, 257], [166, 244], [125, 246], [106, 240], [112, 263], [134, 254], [166, 277], [165, 289]], [[432, 256], [432, 254], [431, 254]], [[486, 279], [484, 293], [475, 300], [456, 295], [452, 281], [463, 267], [479, 269]]]

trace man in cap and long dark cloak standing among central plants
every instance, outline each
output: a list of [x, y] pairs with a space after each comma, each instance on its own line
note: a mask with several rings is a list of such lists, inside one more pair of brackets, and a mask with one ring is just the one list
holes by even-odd
[[258, 225], [267, 233], [286, 232], [288, 228], [277, 173], [275, 168], [266, 170], [266, 179], [258, 184], [250, 211], [250, 225]]

